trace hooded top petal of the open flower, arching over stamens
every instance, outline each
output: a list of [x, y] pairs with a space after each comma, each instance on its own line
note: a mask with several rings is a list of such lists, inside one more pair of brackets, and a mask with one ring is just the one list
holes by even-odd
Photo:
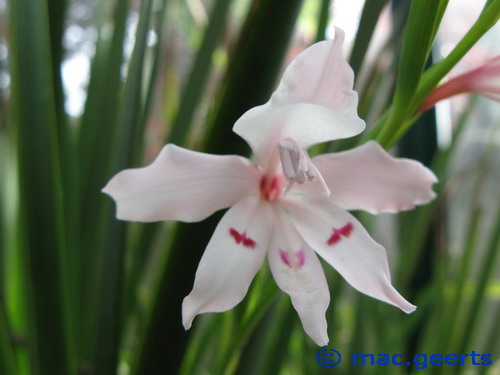
[[286, 69], [278, 89], [266, 104], [247, 111], [233, 130], [261, 159], [279, 139], [293, 138], [307, 148], [362, 132], [354, 75], [342, 56], [344, 32], [312, 45]]

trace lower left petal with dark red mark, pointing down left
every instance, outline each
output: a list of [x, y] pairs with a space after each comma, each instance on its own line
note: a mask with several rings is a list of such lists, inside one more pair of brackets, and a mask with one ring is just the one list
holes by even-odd
[[243, 299], [264, 261], [272, 224], [271, 207], [257, 197], [238, 202], [224, 215], [201, 258], [193, 290], [182, 303], [186, 329], [196, 315], [229, 310]]

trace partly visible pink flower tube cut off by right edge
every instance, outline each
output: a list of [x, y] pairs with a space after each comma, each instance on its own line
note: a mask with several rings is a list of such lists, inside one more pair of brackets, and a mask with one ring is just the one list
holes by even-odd
[[500, 101], [500, 56], [436, 87], [425, 99], [420, 110], [426, 111], [443, 99], [468, 92]]

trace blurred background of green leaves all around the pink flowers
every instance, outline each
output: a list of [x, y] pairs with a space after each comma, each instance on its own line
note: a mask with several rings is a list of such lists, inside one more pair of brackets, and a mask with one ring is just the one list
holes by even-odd
[[[500, 374], [500, 106], [461, 95], [419, 111], [449, 74], [500, 53], [499, 17], [500, 0], [0, 0], [0, 375]], [[167, 142], [248, 154], [232, 125], [333, 25], [368, 130], [316, 151], [377, 139], [440, 182], [427, 206], [357, 214], [418, 310], [325, 265], [329, 347], [475, 350], [492, 365], [323, 368], [267, 266], [238, 307], [185, 332], [181, 301], [220, 213], [125, 223], [100, 193]]]

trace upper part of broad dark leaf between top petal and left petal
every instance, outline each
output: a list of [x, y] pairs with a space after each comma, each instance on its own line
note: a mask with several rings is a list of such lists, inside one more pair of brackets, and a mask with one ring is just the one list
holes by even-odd
[[232, 126], [248, 109], [269, 99], [302, 7], [302, 0], [254, 1], [240, 43], [232, 51], [215, 115], [209, 119], [204, 142], [207, 152], [232, 154], [248, 150], [243, 139], [232, 132]]

